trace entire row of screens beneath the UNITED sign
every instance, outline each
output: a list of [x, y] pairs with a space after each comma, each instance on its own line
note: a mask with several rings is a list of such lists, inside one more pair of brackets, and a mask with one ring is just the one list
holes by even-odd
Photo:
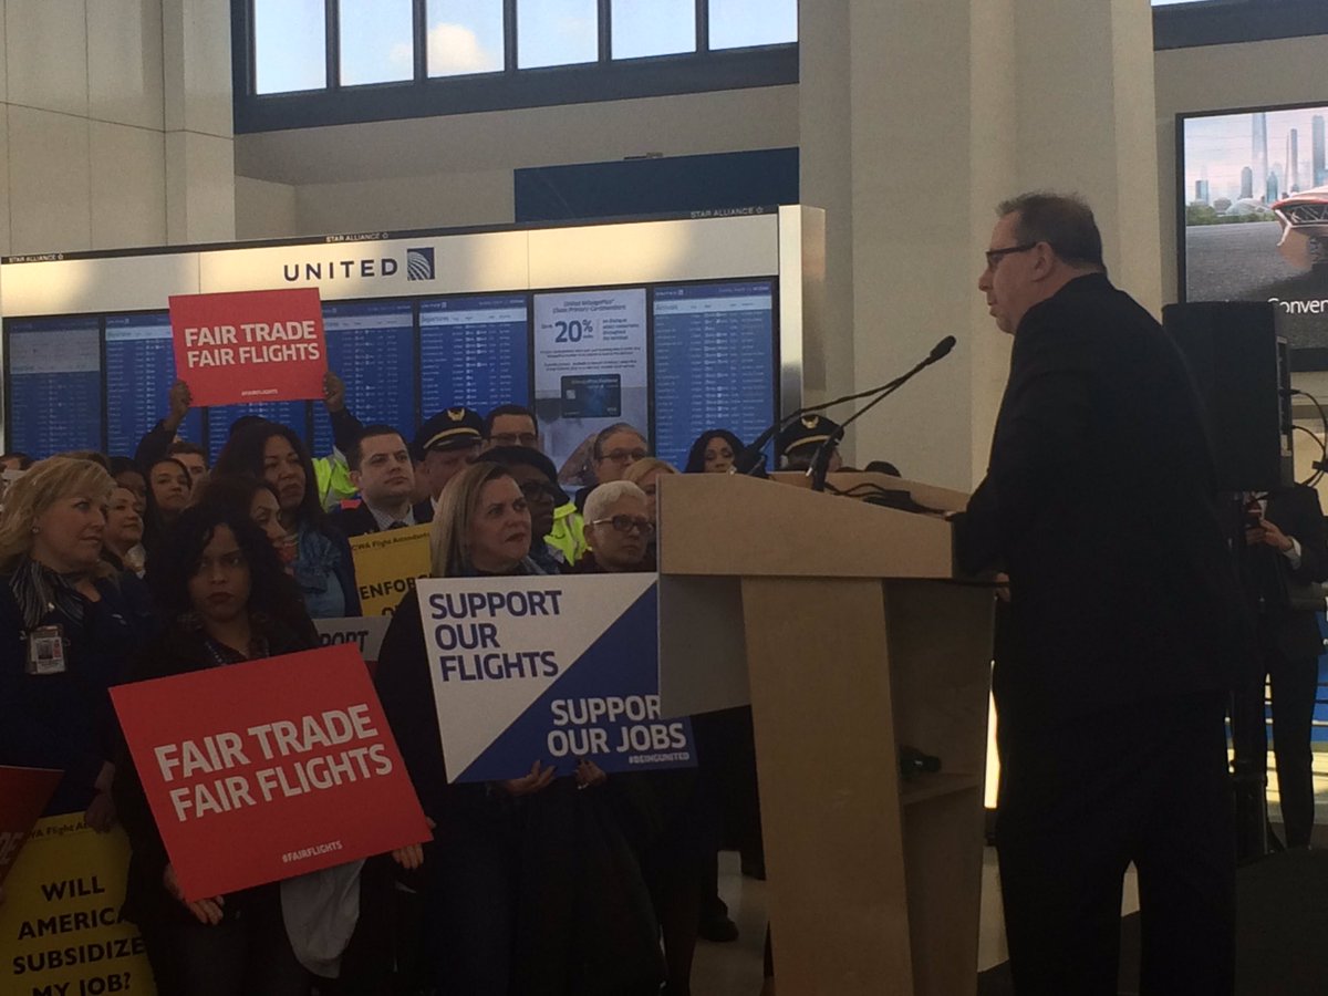
[[[408, 440], [424, 418], [517, 402], [538, 416], [560, 463], [618, 421], [681, 463], [705, 429], [752, 440], [776, 418], [776, 282], [742, 279], [539, 293], [332, 301], [323, 305], [329, 368], [365, 425]], [[7, 319], [7, 446], [133, 456], [166, 413], [175, 380], [165, 311]], [[197, 408], [179, 434], [211, 459], [231, 424], [256, 414], [292, 428], [315, 457], [333, 449], [317, 401]]]

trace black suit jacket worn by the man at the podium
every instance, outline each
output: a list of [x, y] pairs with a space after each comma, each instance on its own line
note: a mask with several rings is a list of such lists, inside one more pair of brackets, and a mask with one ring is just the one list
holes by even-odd
[[1223, 689], [1254, 652], [1198, 412], [1174, 344], [1105, 275], [1024, 316], [955, 522], [964, 570], [1011, 576], [1003, 722]]

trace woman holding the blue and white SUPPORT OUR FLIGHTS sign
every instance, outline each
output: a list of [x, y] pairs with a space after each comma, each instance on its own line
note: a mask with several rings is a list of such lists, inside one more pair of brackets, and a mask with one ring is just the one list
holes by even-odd
[[[542, 574], [526, 555], [530, 535], [517, 481], [474, 463], [442, 490], [433, 575]], [[429, 668], [412, 592], [392, 618], [376, 680], [437, 823], [424, 862], [436, 985], [466, 996], [659, 993], [659, 928], [618, 823], [619, 791], [590, 761], [555, 778], [537, 758], [521, 778], [448, 785]]]

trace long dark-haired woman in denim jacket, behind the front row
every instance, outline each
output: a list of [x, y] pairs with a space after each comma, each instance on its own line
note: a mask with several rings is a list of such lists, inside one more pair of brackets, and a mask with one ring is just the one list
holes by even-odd
[[313, 463], [299, 436], [276, 422], [246, 425], [231, 436], [214, 474], [248, 474], [276, 491], [279, 519], [295, 547], [291, 570], [313, 619], [360, 615], [351, 544], [319, 503]]

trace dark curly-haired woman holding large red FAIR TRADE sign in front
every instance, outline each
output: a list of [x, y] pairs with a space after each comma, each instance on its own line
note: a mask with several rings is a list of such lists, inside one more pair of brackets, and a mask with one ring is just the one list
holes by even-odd
[[[317, 645], [295, 582], [244, 509], [216, 501], [187, 509], [150, 560], [147, 583], [167, 624], [131, 680]], [[332, 983], [336, 992], [382, 991], [385, 965], [373, 952], [351, 955], [364, 862], [186, 902], [127, 752], [121, 768], [116, 798], [133, 846], [124, 914], [139, 926], [159, 992], [304, 996], [312, 975], [343, 976]], [[406, 857], [412, 850], [398, 861], [417, 863]], [[355, 961], [351, 977], [347, 959]]]

